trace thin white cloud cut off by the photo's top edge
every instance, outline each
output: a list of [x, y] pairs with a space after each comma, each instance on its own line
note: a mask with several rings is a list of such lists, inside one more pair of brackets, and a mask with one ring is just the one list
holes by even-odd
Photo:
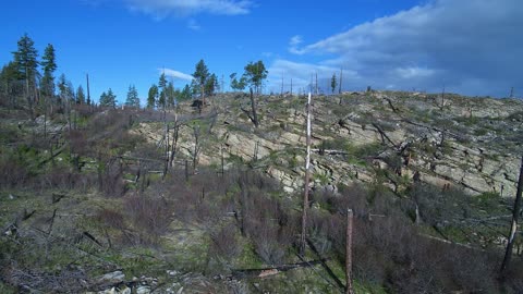
[[151, 14], [156, 19], [170, 15], [188, 16], [200, 13], [240, 15], [251, 11], [248, 0], [123, 0], [131, 10]]

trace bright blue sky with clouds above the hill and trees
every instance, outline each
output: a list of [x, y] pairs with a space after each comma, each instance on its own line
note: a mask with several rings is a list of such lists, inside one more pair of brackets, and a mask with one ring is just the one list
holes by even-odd
[[57, 50], [57, 76], [92, 97], [109, 87], [124, 101], [130, 84], [145, 100], [159, 73], [190, 83], [199, 59], [210, 72], [269, 70], [266, 91], [305, 89], [317, 73], [328, 87], [343, 68], [343, 88], [523, 96], [521, 0], [29, 0], [5, 1], [0, 64], [27, 33], [41, 54]]

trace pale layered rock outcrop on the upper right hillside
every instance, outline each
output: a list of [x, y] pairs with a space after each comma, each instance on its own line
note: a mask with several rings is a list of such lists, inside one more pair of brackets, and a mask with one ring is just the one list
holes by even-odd
[[[257, 98], [259, 126], [247, 96], [211, 100], [200, 115], [180, 107], [178, 157], [198, 162], [247, 162], [277, 179], [289, 193], [303, 189], [305, 97]], [[197, 115], [193, 119], [193, 115]], [[190, 119], [191, 118], [191, 119]], [[313, 97], [313, 189], [380, 181], [396, 192], [413, 181], [477, 195], [515, 194], [523, 147], [523, 102], [458, 95], [370, 91]], [[135, 130], [153, 143], [158, 123]], [[223, 152], [222, 152], [223, 151]]]

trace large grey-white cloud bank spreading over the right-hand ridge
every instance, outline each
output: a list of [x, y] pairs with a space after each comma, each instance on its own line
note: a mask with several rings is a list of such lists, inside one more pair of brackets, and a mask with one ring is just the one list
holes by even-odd
[[[521, 0], [431, 0], [313, 44], [295, 36], [290, 52], [321, 59], [316, 66], [351, 69], [349, 88], [394, 87], [503, 96], [522, 84]], [[314, 64], [304, 64], [312, 66]], [[295, 72], [297, 63], [271, 68]], [[299, 73], [296, 73], [299, 74]]]

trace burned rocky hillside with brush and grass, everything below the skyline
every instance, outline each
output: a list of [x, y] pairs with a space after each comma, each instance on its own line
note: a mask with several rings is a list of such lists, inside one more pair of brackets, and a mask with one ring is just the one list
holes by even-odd
[[[1, 109], [0, 292], [519, 293], [498, 279], [523, 102], [369, 91], [223, 94], [198, 111]], [[519, 232], [521, 235], [521, 232]]]

